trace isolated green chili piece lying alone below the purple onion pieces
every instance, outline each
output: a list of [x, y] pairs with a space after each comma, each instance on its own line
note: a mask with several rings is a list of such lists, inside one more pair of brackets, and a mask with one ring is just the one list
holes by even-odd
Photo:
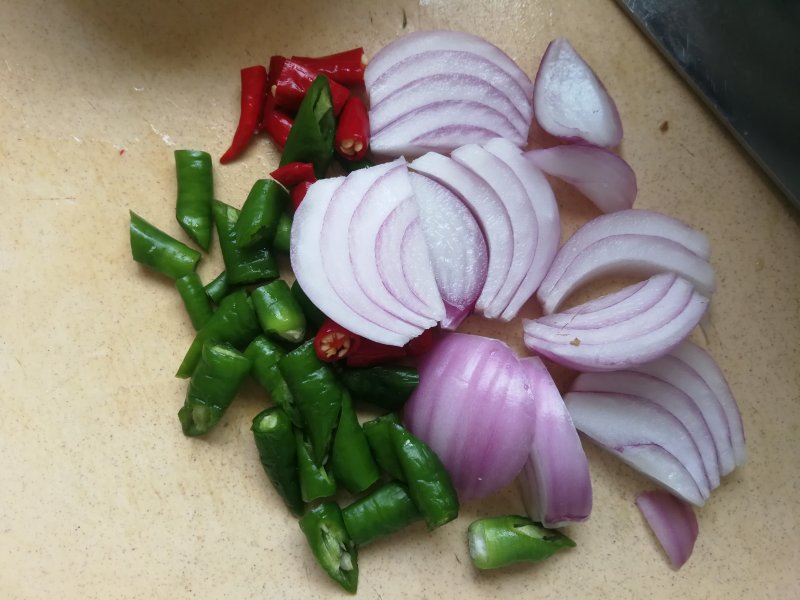
[[517, 515], [478, 519], [469, 526], [467, 537], [472, 564], [479, 569], [536, 562], [575, 546], [564, 534]]

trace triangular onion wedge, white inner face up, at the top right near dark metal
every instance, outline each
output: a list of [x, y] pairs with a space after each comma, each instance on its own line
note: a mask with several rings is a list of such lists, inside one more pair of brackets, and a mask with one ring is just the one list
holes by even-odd
[[622, 141], [614, 101], [563, 37], [550, 42], [539, 64], [533, 110], [542, 129], [556, 137], [606, 147]]

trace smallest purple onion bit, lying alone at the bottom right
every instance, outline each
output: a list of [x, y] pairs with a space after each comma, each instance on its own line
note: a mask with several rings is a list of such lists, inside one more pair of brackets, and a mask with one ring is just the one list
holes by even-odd
[[669, 492], [642, 492], [636, 506], [656, 534], [672, 566], [680, 569], [694, 549], [699, 527], [692, 507]]

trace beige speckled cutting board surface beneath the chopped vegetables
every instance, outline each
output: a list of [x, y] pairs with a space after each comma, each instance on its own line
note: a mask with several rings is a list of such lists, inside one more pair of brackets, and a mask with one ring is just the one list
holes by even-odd
[[[405, 12], [407, 21], [404, 28]], [[374, 54], [404, 31], [463, 29], [533, 74], [565, 35], [625, 125], [637, 205], [711, 239], [718, 291], [696, 340], [739, 400], [747, 464], [697, 511], [679, 572], [638, 513], [649, 484], [588, 447], [591, 519], [577, 548], [480, 573], [476, 517], [515, 513], [513, 486], [363, 549], [365, 598], [800, 597], [800, 228], [795, 212], [611, 0], [532, 2], [0, 2], [0, 597], [329, 598], [258, 464], [248, 386], [207, 439], [183, 437], [192, 337], [166, 279], [131, 260], [128, 209], [180, 236], [177, 148], [218, 157], [238, 117], [239, 69], [271, 54]], [[668, 130], [659, 126], [668, 122]], [[241, 205], [277, 155], [259, 140], [216, 167]], [[565, 235], [597, 212], [555, 185]], [[218, 252], [199, 268], [208, 280]], [[532, 302], [524, 310], [536, 315]], [[467, 329], [523, 352], [520, 323]]]

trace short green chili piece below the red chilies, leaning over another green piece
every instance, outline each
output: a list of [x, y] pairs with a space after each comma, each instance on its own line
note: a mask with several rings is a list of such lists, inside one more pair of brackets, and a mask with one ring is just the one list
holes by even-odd
[[253, 184], [236, 221], [236, 239], [242, 248], [270, 244], [278, 220], [289, 204], [289, 194], [273, 179], [259, 179]]

